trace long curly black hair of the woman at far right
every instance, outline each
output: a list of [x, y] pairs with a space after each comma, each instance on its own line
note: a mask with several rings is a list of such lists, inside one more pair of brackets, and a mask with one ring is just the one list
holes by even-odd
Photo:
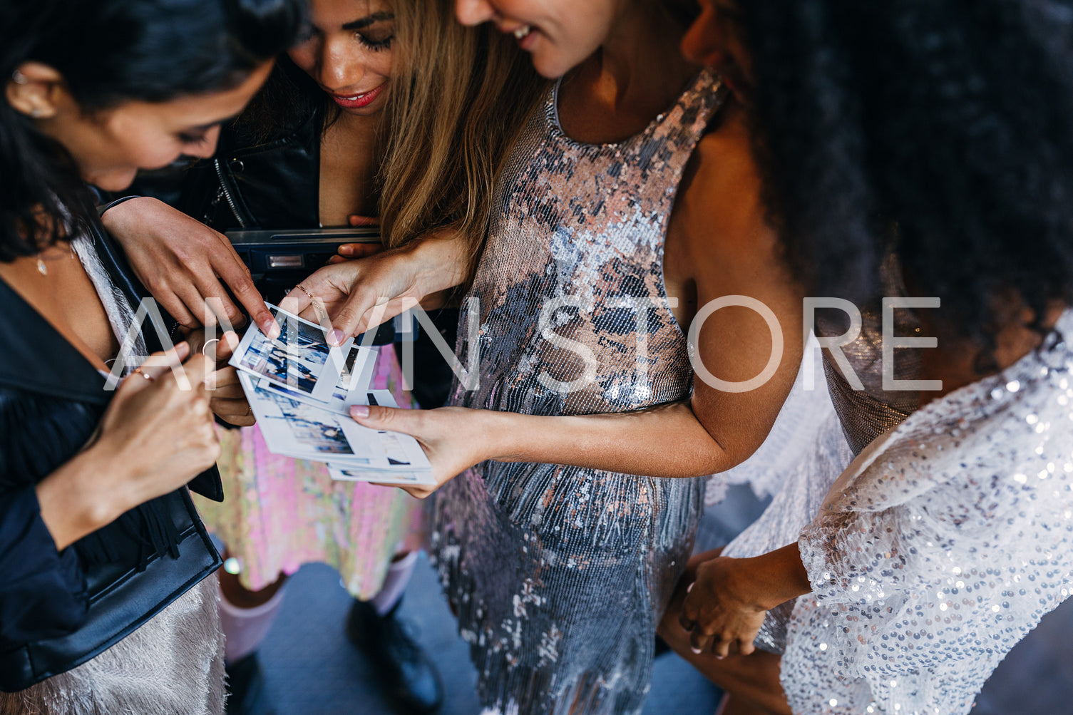
[[738, 10], [765, 203], [815, 294], [876, 297], [893, 246], [949, 334], [1073, 304], [1073, 1]]

